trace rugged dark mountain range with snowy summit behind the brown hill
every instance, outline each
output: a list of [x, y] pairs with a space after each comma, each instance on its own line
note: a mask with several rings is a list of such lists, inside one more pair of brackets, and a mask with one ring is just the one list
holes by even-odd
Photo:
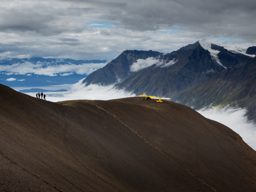
[[[142, 52], [147, 53], [144, 60], [153, 57], [155, 63], [132, 71], [131, 66], [142, 58]], [[126, 50], [115, 62], [91, 73], [83, 83], [116, 83], [118, 89], [137, 95], [170, 97], [194, 109], [238, 106], [247, 108], [249, 119], [256, 120], [255, 54], [256, 46], [244, 49], [203, 41], [168, 54]], [[128, 58], [134, 60], [128, 63]], [[106, 71], [111, 71], [111, 75], [106, 75]]]

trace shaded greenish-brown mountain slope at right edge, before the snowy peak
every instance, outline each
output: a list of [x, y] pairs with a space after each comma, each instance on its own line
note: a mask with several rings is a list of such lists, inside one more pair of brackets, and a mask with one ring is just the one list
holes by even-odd
[[210, 104], [237, 105], [249, 109], [249, 119], [256, 119], [256, 57], [216, 74], [173, 99], [194, 109]]

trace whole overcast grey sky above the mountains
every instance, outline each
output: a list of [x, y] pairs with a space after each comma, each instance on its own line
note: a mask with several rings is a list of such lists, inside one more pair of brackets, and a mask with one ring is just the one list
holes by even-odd
[[1, 0], [0, 56], [114, 59], [198, 40], [256, 45], [255, 0]]

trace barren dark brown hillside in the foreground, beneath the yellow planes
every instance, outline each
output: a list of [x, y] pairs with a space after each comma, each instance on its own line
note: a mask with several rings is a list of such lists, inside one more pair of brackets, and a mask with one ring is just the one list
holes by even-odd
[[255, 151], [184, 105], [0, 101], [0, 191], [256, 191]]

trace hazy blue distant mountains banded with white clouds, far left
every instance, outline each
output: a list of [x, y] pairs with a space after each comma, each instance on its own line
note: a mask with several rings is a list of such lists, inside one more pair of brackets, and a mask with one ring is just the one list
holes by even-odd
[[74, 84], [106, 62], [42, 57], [0, 58], [0, 83], [9, 87]]

